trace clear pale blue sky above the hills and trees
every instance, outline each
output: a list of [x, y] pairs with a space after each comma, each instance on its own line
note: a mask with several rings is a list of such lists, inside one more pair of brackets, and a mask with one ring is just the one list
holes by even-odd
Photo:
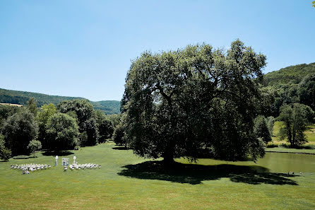
[[131, 59], [237, 38], [264, 72], [315, 62], [313, 0], [0, 1], [0, 88], [120, 100]]

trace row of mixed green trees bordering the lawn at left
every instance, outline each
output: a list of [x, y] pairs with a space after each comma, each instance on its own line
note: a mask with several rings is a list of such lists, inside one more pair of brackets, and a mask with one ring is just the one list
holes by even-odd
[[0, 158], [8, 160], [40, 149], [94, 146], [112, 137], [118, 118], [94, 110], [85, 99], [42, 105], [40, 109], [34, 98], [25, 107], [0, 105]]

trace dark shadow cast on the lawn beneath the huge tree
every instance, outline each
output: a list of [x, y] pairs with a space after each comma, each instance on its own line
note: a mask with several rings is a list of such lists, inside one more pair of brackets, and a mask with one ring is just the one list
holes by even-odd
[[220, 180], [230, 178], [232, 182], [242, 182], [251, 185], [297, 185], [297, 182], [283, 173], [270, 173], [268, 168], [261, 166], [244, 165], [194, 165], [174, 163], [172, 167], [165, 168], [162, 161], [146, 161], [136, 165], [124, 165], [118, 175], [133, 177], [143, 180], [164, 180], [169, 182], [201, 184], [206, 180]]

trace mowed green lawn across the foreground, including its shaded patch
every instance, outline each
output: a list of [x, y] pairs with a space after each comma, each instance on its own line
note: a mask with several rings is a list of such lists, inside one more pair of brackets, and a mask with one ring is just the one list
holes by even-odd
[[[112, 143], [69, 151], [61, 158], [101, 169], [63, 171], [61, 165], [21, 175], [11, 164], [54, 165], [53, 154], [0, 162], [0, 209], [315, 209], [315, 175], [250, 173], [242, 165], [163, 169], [160, 160]], [[255, 165], [255, 163], [253, 163]], [[191, 167], [194, 166], [194, 167]]]

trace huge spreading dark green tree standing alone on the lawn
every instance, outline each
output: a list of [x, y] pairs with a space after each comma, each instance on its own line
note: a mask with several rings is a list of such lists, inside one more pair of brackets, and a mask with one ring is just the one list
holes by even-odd
[[122, 100], [129, 147], [165, 163], [194, 160], [204, 148], [229, 160], [263, 156], [253, 127], [265, 65], [263, 54], [239, 40], [227, 51], [189, 45], [144, 52], [131, 64]]

